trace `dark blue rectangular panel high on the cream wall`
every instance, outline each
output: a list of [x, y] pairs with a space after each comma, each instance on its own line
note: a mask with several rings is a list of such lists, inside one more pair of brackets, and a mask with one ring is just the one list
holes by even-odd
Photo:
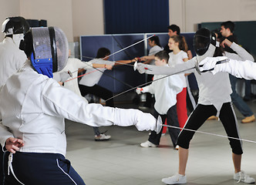
[[168, 0], [105, 0], [105, 32], [166, 32]]

